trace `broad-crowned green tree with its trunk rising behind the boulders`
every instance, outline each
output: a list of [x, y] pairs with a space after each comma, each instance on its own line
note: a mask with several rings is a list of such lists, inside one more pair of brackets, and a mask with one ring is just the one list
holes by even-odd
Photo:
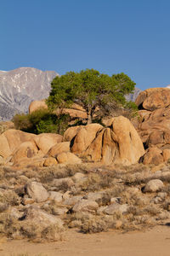
[[51, 109], [69, 108], [77, 103], [85, 109], [88, 124], [92, 122], [97, 107], [106, 104], [126, 104], [125, 95], [133, 92], [135, 83], [124, 73], [99, 73], [94, 69], [82, 70], [80, 73], [68, 72], [56, 77], [47, 104]]

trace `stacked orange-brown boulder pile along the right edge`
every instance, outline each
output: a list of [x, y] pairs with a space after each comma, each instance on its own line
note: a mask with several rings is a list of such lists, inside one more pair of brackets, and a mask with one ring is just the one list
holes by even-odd
[[139, 108], [137, 131], [144, 143], [144, 164], [159, 165], [170, 159], [170, 89], [152, 88], [136, 99]]

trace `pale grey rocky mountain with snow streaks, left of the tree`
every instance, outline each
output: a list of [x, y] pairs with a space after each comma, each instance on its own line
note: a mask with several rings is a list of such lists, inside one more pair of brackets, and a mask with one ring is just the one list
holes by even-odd
[[43, 72], [33, 67], [0, 71], [0, 119], [26, 113], [32, 100], [47, 98], [51, 81], [57, 75], [54, 71]]

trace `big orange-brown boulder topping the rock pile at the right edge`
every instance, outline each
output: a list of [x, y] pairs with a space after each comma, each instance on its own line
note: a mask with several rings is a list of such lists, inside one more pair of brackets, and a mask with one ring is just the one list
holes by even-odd
[[136, 99], [137, 106], [153, 111], [156, 108], [167, 108], [170, 102], [168, 88], [151, 88], [142, 91]]

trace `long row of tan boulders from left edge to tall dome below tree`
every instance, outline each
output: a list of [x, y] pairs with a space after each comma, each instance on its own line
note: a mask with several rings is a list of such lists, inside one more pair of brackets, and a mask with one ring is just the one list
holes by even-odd
[[144, 155], [143, 143], [131, 122], [119, 116], [107, 127], [80, 125], [59, 134], [35, 135], [9, 129], [0, 135], [2, 162], [11, 166], [54, 166], [83, 161], [110, 165], [135, 164]]

